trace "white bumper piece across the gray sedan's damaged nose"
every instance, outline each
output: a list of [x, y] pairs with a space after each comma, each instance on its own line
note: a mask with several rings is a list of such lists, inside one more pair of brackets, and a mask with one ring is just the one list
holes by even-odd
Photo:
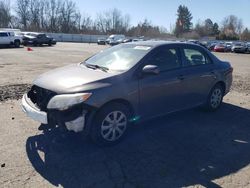
[[22, 98], [21, 107], [24, 113], [26, 113], [26, 115], [31, 119], [42, 124], [48, 124], [47, 113], [40, 111], [40, 109], [38, 109], [35, 104], [33, 104], [32, 101], [28, 98], [27, 94], [25, 94]]

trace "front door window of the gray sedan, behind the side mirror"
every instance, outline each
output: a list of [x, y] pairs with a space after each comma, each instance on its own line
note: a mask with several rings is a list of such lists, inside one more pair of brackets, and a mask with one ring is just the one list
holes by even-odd
[[181, 66], [178, 59], [177, 50], [174, 48], [160, 49], [150, 58], [148, 64], [157, 65], [160, 71], [176, 69]]

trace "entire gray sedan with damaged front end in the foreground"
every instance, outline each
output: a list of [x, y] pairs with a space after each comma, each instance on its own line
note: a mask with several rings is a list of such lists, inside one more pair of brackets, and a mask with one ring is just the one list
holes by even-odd
[[195, 44], [120, 44], [39, 76], [22, 109], [50, 129], [65, 127], [110, 145], [137, 121], [196, 106], [217, 110], [232, 70]]

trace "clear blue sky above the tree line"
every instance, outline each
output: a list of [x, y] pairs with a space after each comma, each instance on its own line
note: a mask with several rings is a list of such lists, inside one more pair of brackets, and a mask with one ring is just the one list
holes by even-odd
[[73, 0], [81, 13], [95, 18], [97, 13], [117, 8], [123, 15], [129, 14], [131, 25], [137, 25], [145, 18], [153, 25], [168, 29], [174, 27], [179, 5], [185, 5], [192, 13], [194, 25], [210, 18], [219, 25], [228, 15], [241, 18], [250, 28], [250, 0]]

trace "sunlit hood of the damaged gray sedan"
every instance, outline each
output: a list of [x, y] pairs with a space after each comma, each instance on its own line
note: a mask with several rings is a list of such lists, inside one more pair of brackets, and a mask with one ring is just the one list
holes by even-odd
[[57, 68], [40, 75], [33, 84], [41, 88], [61, 93], [76, 93], [110, 85], [117, 73], [93, 70], [84, 65], [74, 64]]

